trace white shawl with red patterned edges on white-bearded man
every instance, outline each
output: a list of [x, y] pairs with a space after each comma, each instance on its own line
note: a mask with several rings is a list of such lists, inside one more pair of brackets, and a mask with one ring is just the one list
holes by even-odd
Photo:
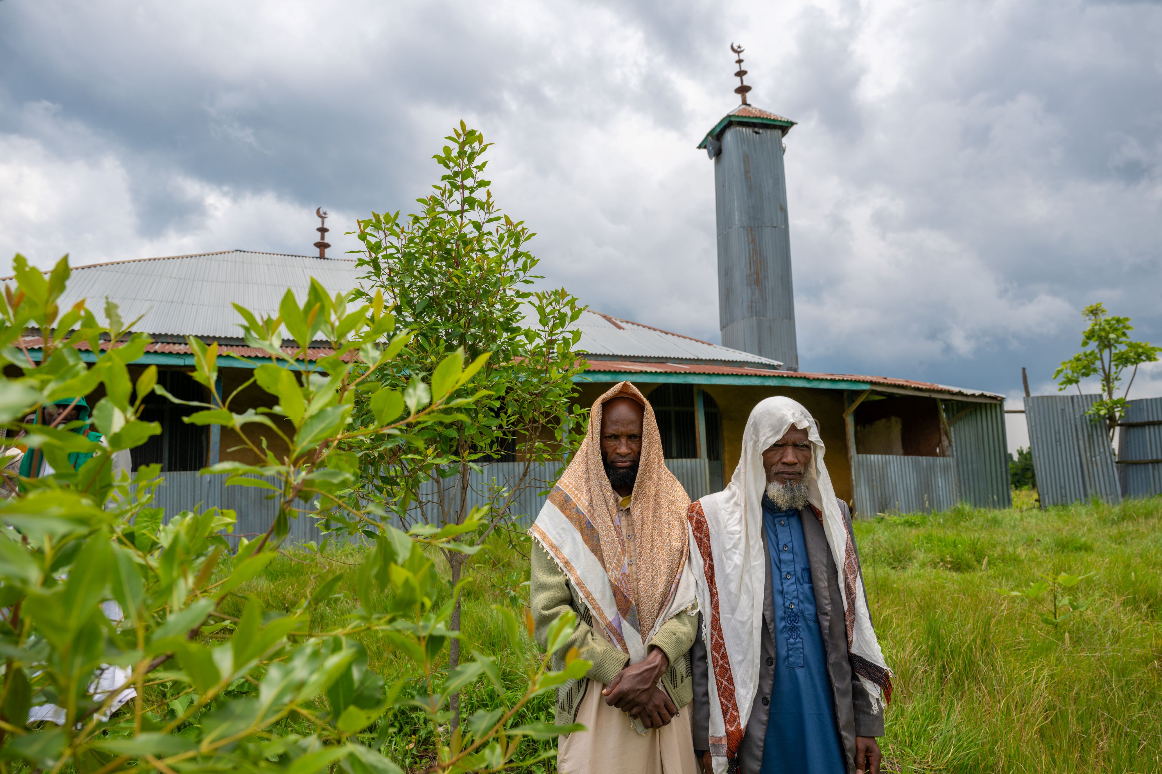
[[690, 564], [697, 579], [709, 653], [710, 751], [715, 755], [715, 772], [727, 771], [729, 761], [737, 758], [759, 688], [766, 591], [762, 586], [767, 577], [761, 534], [762, 493], [767, 486], [762, 451], [791, 425], [806, 429], [811, 440], [811, 464], [805, 476], [809, 500], [823, 525], [839, 573], [852, 670], [867, 688], [875, 709], [891, 700], [891, 672], [871, 628], [855, 544], [823, 464], [819, 427], [806, 408], [790, 398], [767, 398], [747, 419], [743, 454], [730, 485], [689, 509], [695, 545]]

